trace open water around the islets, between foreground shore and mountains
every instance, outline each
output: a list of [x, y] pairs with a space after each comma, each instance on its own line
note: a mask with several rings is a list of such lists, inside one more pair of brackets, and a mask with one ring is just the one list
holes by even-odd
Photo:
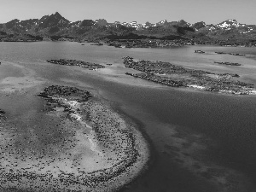
[[[206, 55], [194, 53], [205, 50]], [[214, 51], [246, 56], [216, 55]], [[171, 61], [218, 73], [239, 73], [256, 84], [256, 50], [191, 46], [177, 49], [114, 49], [77, 43], [0, 43], [0, 60], [20, 63], [49, 82], [77, 84], [114, 101], [140, 125], [153, 148], [148, 172], [125, 191], [256, 191], [256, 97], [223, 96], [154, 86], [143, 80], [123, 82], [122, 76], [70, 71], [46, 59], [77, 59], [113, 63], [123, 73], [122, 56]], [[213, 61], [236, 61], [225, 67]], [[1, 73], [0, 73], [1, 74]], [[10, 74], [14, 76], [13, 74]], [[0, 77], [3, 79], [3, 77]], [[4, 106], [8, 108], [8, 106]]]

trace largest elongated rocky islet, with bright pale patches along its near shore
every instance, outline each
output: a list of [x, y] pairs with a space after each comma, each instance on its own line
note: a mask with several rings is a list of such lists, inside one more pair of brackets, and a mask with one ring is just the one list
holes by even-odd
[[255, 95], [253, 84], [236, 80], [240, 76], [232, 73], [209, 73], [207, 71], [189, 69], [163, 61], [133, 61], [130, 56], [124, 58], [125, 67], [143, 73], [125, 73], [135, 78], [166, 84], [172, 87], [190, 87], [198, 90], [236, 95]]

